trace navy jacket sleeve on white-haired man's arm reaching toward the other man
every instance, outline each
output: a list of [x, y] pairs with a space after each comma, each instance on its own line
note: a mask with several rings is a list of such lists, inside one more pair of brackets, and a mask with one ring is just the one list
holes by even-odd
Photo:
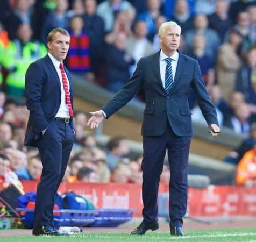
[[113, 113], [117, 112], [125, 104], [127, 104], [132, 97], [140, 90], [143, 84], [143, 63], [142, 59], [139, 60], [137, 68], [133, 73], [133, 76], [120, 89], [116, 96], [114, 96], [107, 104], [105, 104], [102, 110], [106, 113], [106, 118], [109, 118]]

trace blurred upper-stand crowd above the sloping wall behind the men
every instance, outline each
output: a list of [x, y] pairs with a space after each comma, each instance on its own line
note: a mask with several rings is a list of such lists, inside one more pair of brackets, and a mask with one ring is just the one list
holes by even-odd
[[[141, 57], [159, 51], [158, 29], [167, 20], [182, 28], [180, 51], [198, 60], [219, 124], [247, 135], [256, 120], [252, 0], [2, 0], [2, 89], [24, 96], [27, 67], [47, 53], [48, 32], [63, 27], [71, 37], [69, 70], [117, 92]], [[192, 90], [189, 107], [205, 124]]]

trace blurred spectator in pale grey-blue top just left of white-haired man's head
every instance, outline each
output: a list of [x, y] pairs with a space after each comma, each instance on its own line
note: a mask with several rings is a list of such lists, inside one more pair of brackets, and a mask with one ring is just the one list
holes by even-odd
[[137, 20], [133, 26], [133, 34], [129, 35], [126, 42], [126, 52], [135, 61], [134, 65], [130, 66], [130, 76], [132, 76], [141, 57], [153, 54], [152, 43], [146, 37], [146, 23], [143, 20]]

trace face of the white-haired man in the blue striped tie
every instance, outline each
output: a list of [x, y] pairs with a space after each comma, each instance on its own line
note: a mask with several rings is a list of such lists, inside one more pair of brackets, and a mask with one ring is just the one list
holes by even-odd
[[167, 27], [160, 36], [162, 50], [165, 52], [174, 52], [179, 48], [181, 30], [179, 26]]

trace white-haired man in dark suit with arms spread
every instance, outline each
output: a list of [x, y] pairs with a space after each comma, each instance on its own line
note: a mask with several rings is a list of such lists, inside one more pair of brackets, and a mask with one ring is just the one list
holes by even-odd
[[177, 51], [181, 27], [175, 22], [160, 26], [161, 50], [141, 58], [127, 84], [102, 110], [91, 112], [88, 124], [98, 127], [143, 88], [146, 107], [143, 135], [143, 222], [131, 234], [157, 230], [157, 196], [163, 159], [168, 151], [170, 165], [170, 233], [183, 236], [181, 229], [187, 209], [188, 154], [193, 128], [188, 95], [193, 88], [213, 136], [219, 133], [214, 105], [205, 90], [198, 62]]

